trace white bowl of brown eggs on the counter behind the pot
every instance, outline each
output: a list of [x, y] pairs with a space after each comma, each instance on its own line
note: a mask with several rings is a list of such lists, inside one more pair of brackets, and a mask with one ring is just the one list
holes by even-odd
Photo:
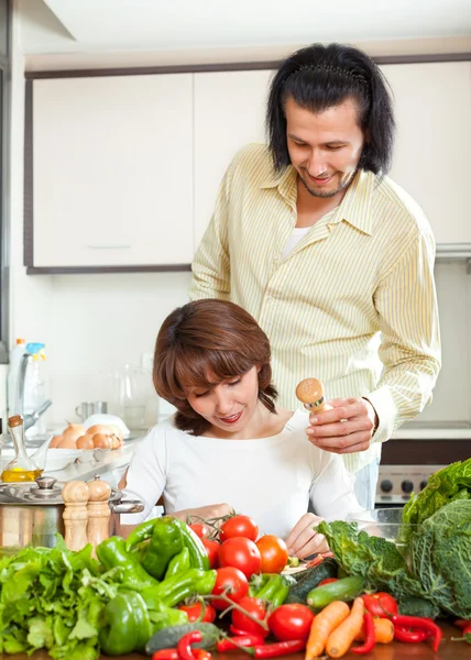
[[80, 463], [102, 461], [110, 451], [120, 449], [123, 443], [121, 429], [116, 425], [97, 424], [88, 429], [81, 424], [68, 424], [62, 433], [55, 436], [50, 450], [77, 452]]

